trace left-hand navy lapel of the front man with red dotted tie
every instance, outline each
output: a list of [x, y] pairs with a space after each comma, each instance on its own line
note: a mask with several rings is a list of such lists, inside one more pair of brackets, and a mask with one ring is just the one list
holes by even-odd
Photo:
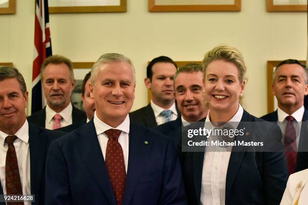
[[82, 129], [78, 129], [75, 132], [80, 135], [77, 138], [78, 141], [76, 141], [76, 150], [78, 150], [93, 179], [98, 183], [109, 203], [116, 204], [93, 119], [83, 126]]

